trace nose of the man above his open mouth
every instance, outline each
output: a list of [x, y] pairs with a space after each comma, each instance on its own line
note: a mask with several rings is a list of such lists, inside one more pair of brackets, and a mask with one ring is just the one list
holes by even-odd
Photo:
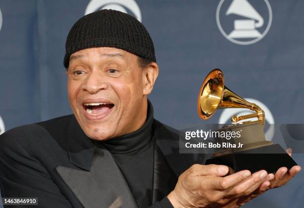
[[106, 90], [108, 84], [106, 82], [105, 76], [102, 72], [93, 70], [85, 78], [85, 82], [82, 85], [82, 90], [87, 91], [90, 94], [96, 94], [101, 90]]

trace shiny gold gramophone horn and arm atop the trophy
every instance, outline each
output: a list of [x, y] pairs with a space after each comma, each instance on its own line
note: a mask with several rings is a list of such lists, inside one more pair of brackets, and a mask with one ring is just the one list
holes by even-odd
[[264, 111], [257, 105], [249, 103], [239, 97], [225, 86], [224, 74], [220, 69], [212, 70], [205, 78], [197, 100], [199, 116], [206, 120], [210, 118], [218, 108], [248, 108], [255, 113], [236, 116], [233, 115], [233, 123], [240, 120], [257, 117], [264, 123]]

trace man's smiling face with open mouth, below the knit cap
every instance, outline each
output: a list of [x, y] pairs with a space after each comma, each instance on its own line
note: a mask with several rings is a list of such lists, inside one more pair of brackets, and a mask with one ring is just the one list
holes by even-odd
[[152, 89], [147, 90], [147, 70], [136, 55], [116, 48], [84, 49], [71, 55], [67, 74], [70, 104], [91, 139], [124, 135], [145, 122], [146, 95]]

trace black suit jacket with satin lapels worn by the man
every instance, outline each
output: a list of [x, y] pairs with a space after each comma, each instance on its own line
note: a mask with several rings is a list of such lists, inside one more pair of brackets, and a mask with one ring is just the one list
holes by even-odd
[[[156, 120], [153, 205], [193, 162], [179, 154], [178, 132]], [[144, 173], [143, 173], [144, 174]], [[74, 115], [25, 125], [0, 136], [2, 197], [38, 197], [43, 208], [136, 208], [108, 151], [96, 148]]]

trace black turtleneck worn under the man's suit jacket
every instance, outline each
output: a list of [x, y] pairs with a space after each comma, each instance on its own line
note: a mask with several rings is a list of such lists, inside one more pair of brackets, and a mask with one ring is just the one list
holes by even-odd
[[152, 203], [154, 163], [152, 123], [153, 108], [148, 102], [147, 119], [140, 129], [107, 141], [94, 141], [112, 154], [139, 208], [148, 208]]

